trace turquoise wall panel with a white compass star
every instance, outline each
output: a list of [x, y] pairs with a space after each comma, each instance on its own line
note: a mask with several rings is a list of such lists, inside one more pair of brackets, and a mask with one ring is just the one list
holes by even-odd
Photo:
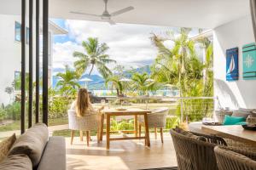
[[244, 80], [256, 80], [255, 43], [242, 46], [242, 69], [242, 77]]

